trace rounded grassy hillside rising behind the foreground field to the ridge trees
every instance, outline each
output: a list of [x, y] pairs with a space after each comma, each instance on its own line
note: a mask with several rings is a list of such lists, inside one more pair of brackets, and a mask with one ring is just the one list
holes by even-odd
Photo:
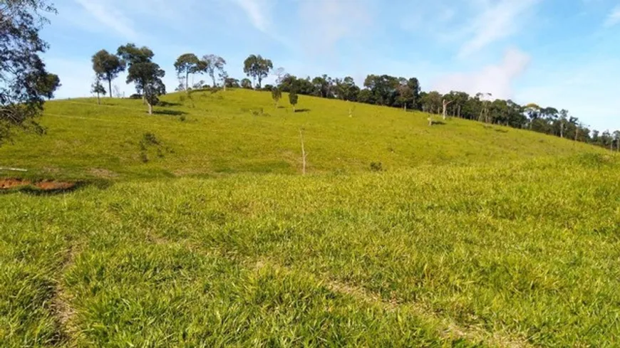
[[[171, 105], [158, 107], [160, 112], [184, 113], [187, 120], [181, 122], [180, 115], [148, 116], [139, 100], [105, 99], [101, 106], [92, 99], [49, 102], [42, 119], [48, 135], [20, 137], [0, 147], [0, 167], [27, 168], [33, 176], [77, 178], [291, 174], [301, 170], [300, 127], [310, 172], [367, 171], [371, 162], [390, 170], [597, 151], [557, 137], [458, 119], [428, 127], [428, 115], [420, 112], [314, 97], [301, 96], [298, 108], [309, 111], [297, 113], [288, 105], [275, 109], [269, 93], [247, 90], [163, 99]], [[351, 106], [353, 117], [348, 117]], [[262, 115], [252, 114], [260, 109]], [[140, 149], [145, 132], [162, 142], [159, 150], [148, 148], [147, 164]]]

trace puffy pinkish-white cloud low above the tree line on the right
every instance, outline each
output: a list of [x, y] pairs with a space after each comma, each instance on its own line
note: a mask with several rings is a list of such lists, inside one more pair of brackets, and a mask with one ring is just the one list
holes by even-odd
[[516, 48], [506, 51], [504, 60], [475, 73], [455, 73], [435, 80], [433, 89], [441, 93], [459, 90], [469, 94], [491, 93], [494, 98], [510, 99], [512, 83], [527, 68], [529, 56]]

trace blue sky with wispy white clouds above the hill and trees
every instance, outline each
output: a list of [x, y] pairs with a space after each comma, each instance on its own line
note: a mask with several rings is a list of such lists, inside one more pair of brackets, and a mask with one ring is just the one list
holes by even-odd
[[[417, 77], [423, 90], [492, 93], [620, 129], [620, 0], [57, 0], [43, 37], [57, 97], [89, 95], [91, 56], [149, 46], [178, 85], [182, 53], [243, 78], [261, 54], [298, 76]], [[196, 77], [195, 80], [208, 80]], [[272, 78], [273, 79], [273, 78]], [[267, 81], [269, 82], [269, 81]], [[125, 76], [115, 80], [125, 93]]]

